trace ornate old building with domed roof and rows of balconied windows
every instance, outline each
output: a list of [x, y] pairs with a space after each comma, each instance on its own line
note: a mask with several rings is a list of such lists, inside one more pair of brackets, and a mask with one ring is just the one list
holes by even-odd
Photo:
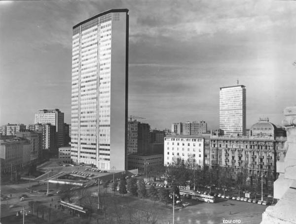
[[233, 178], [244, 173], [250, 184], [264, 175], [272, 185], [276, 161], [285, 157], [286, 140], [282, 129], [268, 119], [254, 124], [250, 136], [211, 135], [211, 168], [227, 168]]

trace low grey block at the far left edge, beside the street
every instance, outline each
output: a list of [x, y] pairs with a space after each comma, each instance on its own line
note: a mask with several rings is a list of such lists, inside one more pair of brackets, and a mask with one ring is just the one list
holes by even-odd
[[12, 135], [0, 136], [1, 173], [20, 170], [31, 163], [31, 144], [28, 139]]

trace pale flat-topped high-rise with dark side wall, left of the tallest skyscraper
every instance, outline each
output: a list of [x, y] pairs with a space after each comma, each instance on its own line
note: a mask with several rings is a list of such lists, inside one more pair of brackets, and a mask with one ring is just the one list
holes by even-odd
[[43, 109], [35, 114], [35, 124], [51, 124], [56, 127], [58, 147], [64, 145], [64, 113], [59, 109]]

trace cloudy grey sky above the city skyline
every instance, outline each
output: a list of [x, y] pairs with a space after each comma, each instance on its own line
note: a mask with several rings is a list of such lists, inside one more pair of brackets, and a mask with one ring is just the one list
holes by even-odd
[[219, 127], [219, 88], [246, 86], [247, 128], [296, 105], [296, 1], [0, 1], [0, 125], [59, 108], [71, 124], [72, 32], [129, 9], [128, 114], [151, 128]]

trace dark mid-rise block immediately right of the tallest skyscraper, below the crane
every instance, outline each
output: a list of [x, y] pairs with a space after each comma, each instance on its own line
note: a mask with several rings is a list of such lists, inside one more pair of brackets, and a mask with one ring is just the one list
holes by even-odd
[[149, 151], [150, 126], [137, 120], [128, 121], [127, 154], [146, 154]]

